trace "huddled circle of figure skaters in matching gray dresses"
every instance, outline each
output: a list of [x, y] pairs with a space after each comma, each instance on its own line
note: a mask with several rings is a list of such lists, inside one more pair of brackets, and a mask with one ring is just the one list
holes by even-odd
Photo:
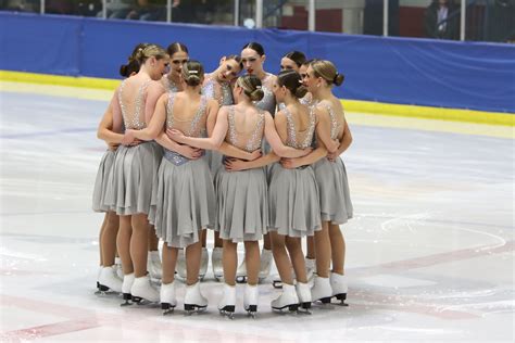
[[277, 75], [264, 71], [265, 59], [250, 42], [206, 74], [180, 42], [134, 49], [98, 130], [109, 147], [93, 191], [93, 209], [105, 212], [99, 292], [122, 293], [124, 304], [161, 303], [169, 313], [179, 279], [185, 310], [206, 308], [200, 282], [211, 229], [221, 313], [235, 313], [239, 281], [253, 316], [273, 261], [282, 289], [273, 309], [344, 302], [340, 225], [352, 204], [340, 155], [352, 136], [332, 93], [343, 75], [299, 51], [285, 54]]

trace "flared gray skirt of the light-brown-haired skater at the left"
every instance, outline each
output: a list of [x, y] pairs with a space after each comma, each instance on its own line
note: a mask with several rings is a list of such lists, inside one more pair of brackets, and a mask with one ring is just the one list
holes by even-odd
[[117, 215], [149, 214], [152, 185], [163, 156], [155, 142], [121, 145], [109, 176], [105, 205]]

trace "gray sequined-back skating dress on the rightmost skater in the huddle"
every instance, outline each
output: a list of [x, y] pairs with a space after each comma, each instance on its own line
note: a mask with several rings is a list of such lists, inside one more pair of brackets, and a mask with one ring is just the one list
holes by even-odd
[[[341, 129], [331, 106], [326, 106], [330, 116], [330, 138], [337, 139]], [[321, 198], [322, 220], [344, 224], [352, 218], [352, 202], [349, 192], [346, 165], [338, 156], [335, 162], [322, 158], [314, 164]]]

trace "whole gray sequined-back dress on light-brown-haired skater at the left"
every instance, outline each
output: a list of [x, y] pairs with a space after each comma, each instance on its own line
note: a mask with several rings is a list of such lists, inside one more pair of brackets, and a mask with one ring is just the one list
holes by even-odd
[[[145, 94], [150, 80], [141, 85], [134, 109], [123, 100], [126, 80], [118, 89], [118, 102], [126, 129], [140, 130], [145, 123]], [[116, 150], [109, 176], [105, 205], [117, 215], [149, 214], [152, 183], [161, 162], [163, 150], [155, 142], [136, 147], [121, 145]]]

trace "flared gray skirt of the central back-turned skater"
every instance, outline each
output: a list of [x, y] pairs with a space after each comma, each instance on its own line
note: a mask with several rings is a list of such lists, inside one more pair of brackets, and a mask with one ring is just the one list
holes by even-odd
[[268, 192], [265, 168], [227, 172], [215, 179], [218, 215], [215, 229], [233, 242], [258, 241], [267, 232]]

